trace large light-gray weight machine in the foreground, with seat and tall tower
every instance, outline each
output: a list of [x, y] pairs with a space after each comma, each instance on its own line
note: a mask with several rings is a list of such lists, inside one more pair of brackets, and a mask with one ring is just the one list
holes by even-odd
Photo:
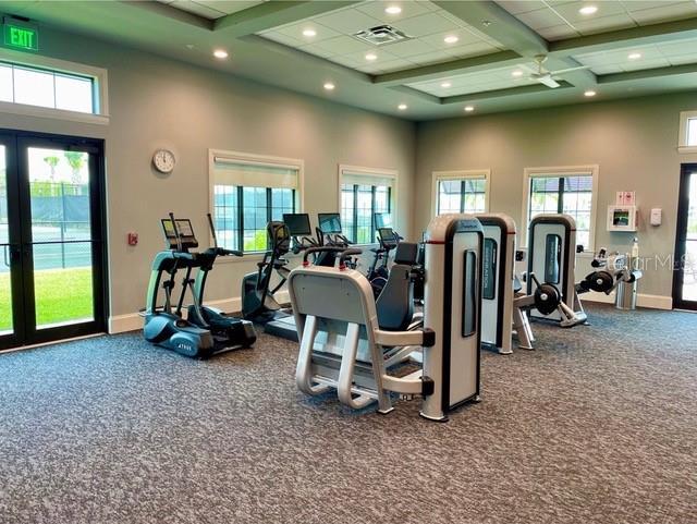
[[[356, 410], [377, 402], [382, 414], [393, 410], [393, 392], [420, 397], [420, 414], [431, 421], [447, 421], [457, 406], [479, 400], [481, 224], [469, 215], [436, 217], [425, 242], [426, 305], [417, 329], [379, 325], [368, 279], [346, 265], [359, 249], [343, 249], [335, 268], [304, 264], [291, 271], [301, 391], [335, 391]], [[421, 367], [398, 376], [406, 353], [419, 348]]]

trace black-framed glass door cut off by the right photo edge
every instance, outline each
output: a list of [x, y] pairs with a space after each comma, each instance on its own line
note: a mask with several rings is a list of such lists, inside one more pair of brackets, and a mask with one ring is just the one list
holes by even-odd
[[684, 163], [680, 176], [673, 307], [697, 309], [697, 163]]

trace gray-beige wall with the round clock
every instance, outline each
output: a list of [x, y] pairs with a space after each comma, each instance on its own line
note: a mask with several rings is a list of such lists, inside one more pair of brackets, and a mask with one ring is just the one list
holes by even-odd
[[[109, 71], [109, 125], [0, 113], [0, 126], [106, 138], [111, 313], [144, 306], [149, 265], [162, 248], [159, 219], [191, 217], [207, 242], [208, 149], [305, 161], [305, 210], [338, 207], [338, 164], [399, 170], [398, 226], [412, 228], [415, 124], [296, 95], [137, 50], [42, 29], [45, 54]], [[150, 167], [154, 150], [178, 157], [172, 175]], [[139, 233], [129, 247], [126, 233]], [[210, 300], [239, 296], [255, 261], [220, 264]]]

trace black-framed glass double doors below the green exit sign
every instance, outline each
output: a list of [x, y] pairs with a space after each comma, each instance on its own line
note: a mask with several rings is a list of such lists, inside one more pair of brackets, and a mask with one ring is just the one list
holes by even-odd
[[0, 350], [105, 330], [102, 151], [0, 131]]

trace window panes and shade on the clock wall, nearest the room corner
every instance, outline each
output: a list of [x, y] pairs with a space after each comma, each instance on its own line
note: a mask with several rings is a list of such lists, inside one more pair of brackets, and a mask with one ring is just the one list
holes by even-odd
[[376, 242], [375, 214], [392, 216], [392, 173], [370, 173], [357, 168], [341, 169], [341, 227], [356, 244]]

